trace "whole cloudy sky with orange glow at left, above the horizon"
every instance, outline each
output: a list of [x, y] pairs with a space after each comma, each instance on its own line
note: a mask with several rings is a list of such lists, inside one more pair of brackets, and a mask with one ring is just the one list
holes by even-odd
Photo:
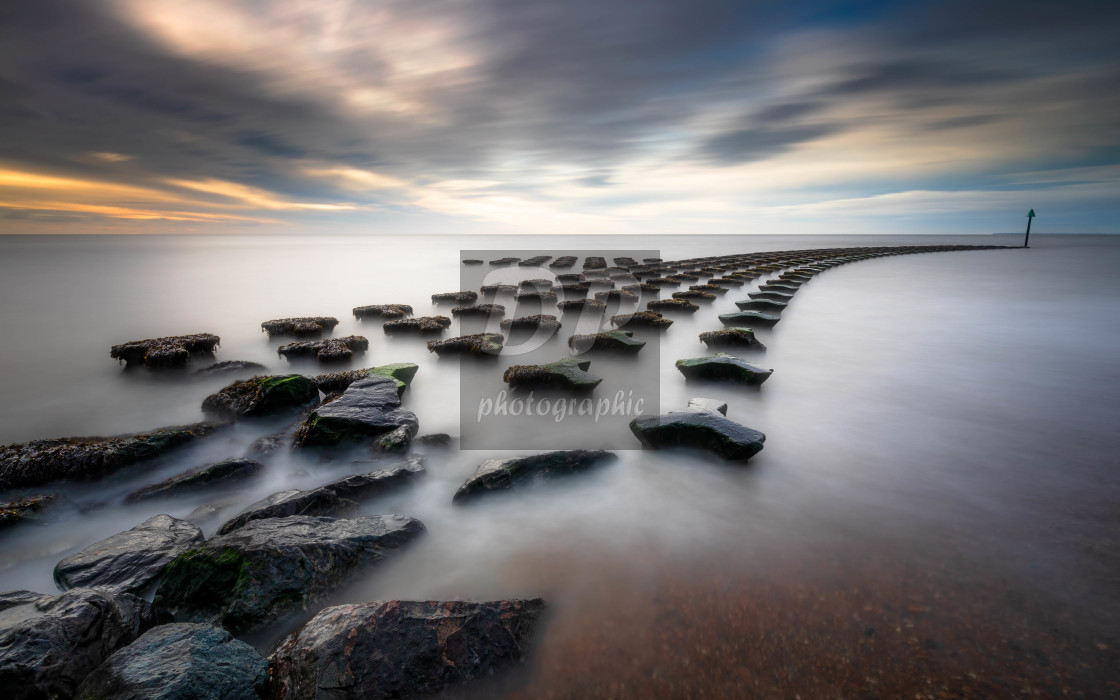
[[6, 0], [0, 233], [1116, 233], [1118, 36], [1116, 0]]

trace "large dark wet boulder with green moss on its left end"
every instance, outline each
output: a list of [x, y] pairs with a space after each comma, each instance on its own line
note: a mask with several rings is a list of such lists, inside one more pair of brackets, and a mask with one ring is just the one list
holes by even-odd
[[164, 571], [156, 604], [242, 634], [306, 609], [424, 531], [403, 515], [270, 517], [217, 535]]

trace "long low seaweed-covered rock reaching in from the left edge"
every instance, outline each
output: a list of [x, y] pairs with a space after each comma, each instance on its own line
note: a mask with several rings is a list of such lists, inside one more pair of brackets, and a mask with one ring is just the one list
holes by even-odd
[[0, 489], [105, 476], [208, 436], [218, 427], [194, 423], [115, 438], [57, 438], [7, 445], [0, 447]]

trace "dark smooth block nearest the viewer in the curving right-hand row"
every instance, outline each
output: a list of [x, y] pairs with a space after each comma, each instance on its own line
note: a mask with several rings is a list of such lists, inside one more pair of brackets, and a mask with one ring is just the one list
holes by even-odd
[[631, 431], [643, 446], [694, 447], [725, 459], [745, 461], [763, 449], [766, 436], [740, 426], [718, 412], [700, 409], [671, 411], [663, 416], [641, 416], [631, 421]]

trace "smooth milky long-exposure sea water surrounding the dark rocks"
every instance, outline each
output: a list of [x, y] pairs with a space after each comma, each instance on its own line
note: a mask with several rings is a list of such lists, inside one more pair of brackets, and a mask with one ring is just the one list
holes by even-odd
[[[517, 243], [528, 248], [525, 240]], [[529, 243], [542, 253], [660, 248], [671, 260], [1019, 241], [541, 236]], [[949, 669], [946, 675], [990, 670], [965, 653], [979, 642], [962, 641], [973, 637], [961, 629], [991, 626], [1019, 646], [1038, 646], [1056, 666], [1068, 655], [1083, 659], [1088, 670], [1075, 669], [1071, 678], [1096, 688], [1108, 679], [1101, 669], [1114, 659], [1120, 623], [1120, 239], [1035, 236], [1029, 250], [888, 256], [816, 276], [781, 323], [756, 328], [766, 349], [741, 353], [774, 368], [762, 388], [685, 382], [673, 366], [709, 354], [697, 335], [722, 327], [717, 315], [736, 310], [734, 302], [758, 282], [701, 302], [694, 315], [671, 316], [675, 323], [660, 334], [657, 353], [648, 353], [660, 367], [661, 411], [692, 396], [726, 401], [728, 418], [766, 433], [765, 449], [749, 464], [643, 451], [624, 435], [619, 442], [632, 449], [616, 450], [613, 465], [548, 488], [452, 507], [455, 489], [482, 459], [523, 450], [432, 449], [418, 484], [363, 504], [367, 513], [416, 516], [428, 534], [326, 604], [541, 595], [551, 604], [549, 623], [524, 685], [511, 692], [609, 696], [610, 683], [627, 678], [629, 693], [641, 697], [672, 694], [664, 678], [650, 692], [634, 684], [654, 683], [650, 669], [659, 664], [669, 675], [693, 674], [696, 688], [702, 688], [696, 674], [704, 663], [717, 670], [749, 665], [731, 652], [717, 661], [718, 654], [694, 651], [719, 650], [747, 634], [730, 613], [743, 600], [769, 600], [792, 616], [786, 619], [805, 615], [809, 622], [794, 626], [813, 629], [812, 620], [827, 614], [806, 613], [805, 599], [794, 595], [800, 587], [827, 609], [844, 610], [838, 619], [860, 606], [890, 608], [889, 601], [921, 596], [939, 603], [918, 606], [932, 610], [920, 626], [960, 633], [955, 641], [937, 637], [943, 659], [930, 652], [936, 659], [928, 663]], [[446, 314], [449, 307], [433, 307], [429, 297], [458, 289], [459, 250], [508, 248], [502, 236], [0, 236], [0, 442], [203, 420], [203, 398], [235, 377], [194, 376], [205, 360], [185, 372], [157, 373], [125, 371], [109, 358], [113, 344], [202, 332], [222, 337], [215, 360], [260, 362], [271, 373], [416, 362], [420, 370], [404, 405], [419, 417], [420, 435], [460, 435], [459, 362], [430, 355], [427, 338], [386, 336], [380, 320], [357, 320], [351, 309], [393, 302], [412, 305], [417, 316]], [[507, 307], [506, 317], [535, 312]], [[260, 324], [289, 316], [335, 316], [340, 323], [332, 335], [364, 335], [370, 349], [343, 366], [278, 357], [276, 348], [287, 340], [269, 339]], [[442, 337], [458, 330], [456, 320]], [[659, 342], [656, 333], [641, 335]], [[648, 362], [648, 349], [629, 362]], [[606, 377], [627, 362], [591, 361], [592, 372]], [[511, 363], [463, 366], [493, 374], [501, 388], [500, 367]], [[240, 498], [204, 529], [209, 536], [258, 498], [321, 485], [358, 470], [352, 460], [368, 458], [360, 448], [330, 459], [286, 450], [245, 487], [122, 504], [134, 488], [241, 456], [290, 421], [241, 421], [166, 459], [59, 486], [73, 504], [45, 523], [0, 534], [0, 590], [53, 592], [52, 570], [63, 557], [157, 513], [183, 517], [204, 503]], [[659, 615], [676, 617], [655, 629], [688, 631], [664, 653], [634, 627]], [[766, 619], [758, 608], [752, 616]], [[299, 622], [279, 623], [251, 641], [267, 648]], [[887, 644], [889, 627], [874, 625]], [[1044, 640], [1043, 629], [1062, 642]], [[693, 632], [699, 636], [689, 636]], [[829, 634], [816, 641], [834, 643]], [[596, 648], [601, 661], [588, 651]], [[948, 651], [958, 648], [960, 656]], [[681, 666], [682, 655], [697, 661]], [[1030, 665], [1014, 654], [1004, 663]], [[572, 668], [586, 673], [577, 678]]]

